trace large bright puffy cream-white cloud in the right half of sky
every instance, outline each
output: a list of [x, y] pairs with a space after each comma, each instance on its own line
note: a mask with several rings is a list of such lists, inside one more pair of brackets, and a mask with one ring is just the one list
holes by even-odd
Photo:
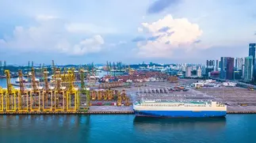
[[138, 42], [137, 46], [139, 55], [144, 57], [171, 58], [174, 50], [189, 51], [201, 45], [194, 42], [202, 35], [202, 30], [198, 24], [192, 24], [186, 18], [174, 19], [167, 15], [151, 24], [142, 23], [142, 26], [148, 38]]

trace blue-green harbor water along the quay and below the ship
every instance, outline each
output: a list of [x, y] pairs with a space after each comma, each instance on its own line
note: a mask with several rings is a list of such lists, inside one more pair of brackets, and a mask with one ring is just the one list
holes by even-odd
[[141, 119], [134, 115], [1, 115], [3, 143], [256, 142], [256, 115]]

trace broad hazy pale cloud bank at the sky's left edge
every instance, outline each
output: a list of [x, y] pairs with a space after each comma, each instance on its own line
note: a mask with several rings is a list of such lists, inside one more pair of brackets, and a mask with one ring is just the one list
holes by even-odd
[[17, 51], [54, 51], [67, 55], [85, 55], [103, 50], [105, 42], [100, 35], [91, 38], [82, 38], [75, 42], [75, 36], [68, 32], [63, 21], [52, 16], [36, 17], [38, 26], [25, 28], [17, 26], [13, 36], [0, 39], [0, 47]]

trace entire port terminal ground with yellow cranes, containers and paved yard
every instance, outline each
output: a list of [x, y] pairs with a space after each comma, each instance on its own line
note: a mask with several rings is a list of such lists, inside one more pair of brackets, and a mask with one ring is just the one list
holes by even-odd
[[[255, 113], [254, 88], [239, 88], [231, 82], [198, 81], [169, 76], [159, 71], [106, 68], [97, 76], [91, 68], [31, 67], [19, 70], [7, 88], [0, 87], [0, 114], [132, 114], [136, 100], [215, 100], [227, 105], [227, 113]], [[49, 71], [48, 71], [49, 70]]]

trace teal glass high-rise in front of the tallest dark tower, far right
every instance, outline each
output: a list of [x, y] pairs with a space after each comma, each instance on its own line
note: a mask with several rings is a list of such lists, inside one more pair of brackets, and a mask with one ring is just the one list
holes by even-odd
[[253, 77], [253, 70], [254, 70], [254, 57], [250, 55], [249, 57], [245, 58], [245, 65], [244, 65], [244, 80], [251, 81]]

